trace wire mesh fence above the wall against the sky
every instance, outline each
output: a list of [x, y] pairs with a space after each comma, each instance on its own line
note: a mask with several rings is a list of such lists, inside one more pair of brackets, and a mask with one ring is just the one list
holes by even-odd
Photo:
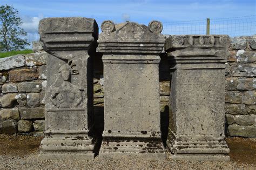
[[[162, 33], [169, 35], [205, 35], [207, 19], [184, 22], [164, 22]], [[251, 36], [256, 33], [256, 15], [210, 19], [210, 34]]]

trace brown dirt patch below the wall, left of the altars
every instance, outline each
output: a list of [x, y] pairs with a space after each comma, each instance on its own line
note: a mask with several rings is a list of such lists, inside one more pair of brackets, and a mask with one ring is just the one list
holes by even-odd
[[9, 136], [0, 134], [0, 155], [18, 155], [23, 157], [39, 151], [43, 137], [28, 135]]

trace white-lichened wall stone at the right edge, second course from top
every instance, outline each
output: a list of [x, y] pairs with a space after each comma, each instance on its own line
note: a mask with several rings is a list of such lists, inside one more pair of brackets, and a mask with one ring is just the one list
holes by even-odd
[[237, 51], [237, 62], [238, 63], [253, 63], [256, 61], [256, 51]]

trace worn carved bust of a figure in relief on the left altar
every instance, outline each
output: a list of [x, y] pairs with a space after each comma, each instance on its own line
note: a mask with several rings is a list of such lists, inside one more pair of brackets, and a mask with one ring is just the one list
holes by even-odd
[[70, 65], [62, 65], [58, 71], [58, 78], [50, 87], [52, 89], [50, 100], [58, 108], [77, 107], [83, 99], [79, 87], [70, 82], [71, 73]]

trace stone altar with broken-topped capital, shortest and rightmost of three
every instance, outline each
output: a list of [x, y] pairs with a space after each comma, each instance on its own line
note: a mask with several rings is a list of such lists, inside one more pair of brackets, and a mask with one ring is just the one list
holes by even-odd
[[171, 36], [174, 63], [167, 146], [177, 160], [229, 160], [224, 140], [225, 62], [228, 36]]

